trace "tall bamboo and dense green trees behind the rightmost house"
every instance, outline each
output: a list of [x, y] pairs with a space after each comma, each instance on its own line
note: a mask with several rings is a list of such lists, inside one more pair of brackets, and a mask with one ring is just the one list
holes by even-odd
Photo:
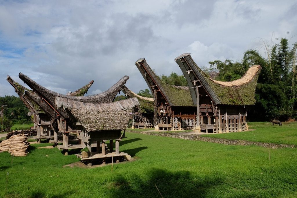
[[266, 57], [257, 51], [248, 50], [241, 62], [215, 60], [209, 62], [217, 68], [216, 80], [232, 81], [240, 78], [252, 65], [261, 65], [262, 70], [256, 87], [256, 104], [249, 108], [250, 120], [287, 120], [297, 117], [297, 42], [289, 47], [288, 40], [268, 45], [263, 42]]

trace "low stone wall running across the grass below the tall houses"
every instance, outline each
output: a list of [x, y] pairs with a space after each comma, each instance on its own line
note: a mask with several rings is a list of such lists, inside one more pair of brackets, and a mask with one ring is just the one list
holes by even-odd
[[140, 133], [146, 135], [154, 135], [154, 136], [163, 136], [163, 137], [172, 137], [186, 140], [199, 140], [203, 142], [213, 142], [219, 144], [228, 144], [228, 145], [256, 145], [260, 147], [266, 148], [294, 148], [294, 145], [289, 144], [274, 144], [274, 143], [263, 143], [263, 142], [252, 142], [246, 140], [230, 140], [230, 139], [221, 139], [221, 138], [212, 138], [212, 137], [202, 137], [200, 135], [185, 135], [178, 133], [154, 133], [147, 131], [128, 131], [132, 133]]

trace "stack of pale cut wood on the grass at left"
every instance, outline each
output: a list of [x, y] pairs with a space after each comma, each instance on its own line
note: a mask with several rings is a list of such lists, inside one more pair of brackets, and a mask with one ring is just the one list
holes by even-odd
[[12, 156], [26, 156], [29, 143], [26, 134], [11, 136], [0, 143], [0, 152], [8, 151]]

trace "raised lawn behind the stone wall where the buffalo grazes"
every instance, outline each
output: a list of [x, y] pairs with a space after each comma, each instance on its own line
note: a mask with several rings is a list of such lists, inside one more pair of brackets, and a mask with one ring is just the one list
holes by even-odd
[[255, 131], [206, 134], [202, 136], [297, 145], [297, 122], [283, 122], [282, 124], [282, 126], [273, 126], [271, 122], [249, 122], [249, 128], [256, 129]]

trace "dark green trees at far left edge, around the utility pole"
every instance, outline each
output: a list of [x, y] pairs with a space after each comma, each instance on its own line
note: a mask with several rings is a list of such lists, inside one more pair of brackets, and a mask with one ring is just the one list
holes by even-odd
[[[7, 105], [4, 107], [4, 117], [7, 117], [15, 124], [31, 123], [28, 116], [28, 108], [19, 97], [5, 96], [0, 97], [0, 104]], [[1, 109], [0, 109], [1, 111]]]

